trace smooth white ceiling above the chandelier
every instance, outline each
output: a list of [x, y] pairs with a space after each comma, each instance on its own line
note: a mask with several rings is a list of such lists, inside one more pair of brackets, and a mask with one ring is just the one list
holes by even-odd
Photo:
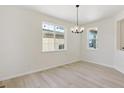
[[[76, 21], [75, 5], [30, 5], [25, 7], [56, 18]], [[84, 24], [110, 17], [122, 10], [124, 10], [124, 6], [121, 5], [80, 5], [79, 23]]]

